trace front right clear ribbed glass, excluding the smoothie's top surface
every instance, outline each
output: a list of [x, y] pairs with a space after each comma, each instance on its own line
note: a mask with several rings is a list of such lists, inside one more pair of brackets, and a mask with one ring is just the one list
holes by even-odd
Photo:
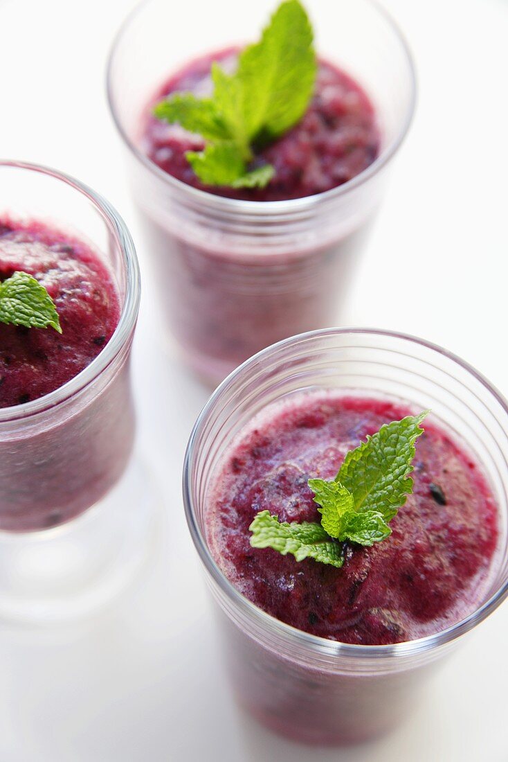
[[[244, 598], [206, 542], [206, 494], [232, 438], [267, 405], [302, 390], [382, 396], [431, 408], [490, 482], [500, 542], [481, 605], [436, 635], [395, 645], [347, 645], [286, 625]], [[372, 738], [415, 703], [434, 663], [508, 594], [508, 407], [467, 363], [417, 338], [366, 329], [315, 331], [252, 357], [219, 386], [196, 421], [184, 464], [190, 533], [222, 627], [239, 703], [276, 732], [312, 744]]]

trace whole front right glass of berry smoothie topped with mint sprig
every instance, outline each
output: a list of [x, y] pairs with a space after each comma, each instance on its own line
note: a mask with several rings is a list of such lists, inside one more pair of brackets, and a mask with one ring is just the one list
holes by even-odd
[[[388, 449], [379, 445], [386, 430], [375, 434], [393, 422], [402, 431], [408, 414], [420, 420], [403, 458], [412, 494], [404, 502], [402, 483], [390, 493], [385, 482], [369, 505], [382, 463], [404, 450], [404, 437]], [[505, 402], [466, 363], [385, 331], [297, 336], [222, 385], [190, 438], [184, 500], [225, 668], [250, 716], [292, 741], [346, 744], [387, 732], [418, 706], [439, 662], [506, 593], [506, 427]], [[372, 445], [356, 450], [369, 435]], [[378, 446], [379, 468], [368, 455]], [[366, 510], [388, 508], [391, 534], [370, 547], [331, 539], [325, 555], [308, 548], [324, 562], [297, 562], [292, 553], [305, 546], [273, 542], [276, 532], [259, 541], [264, 517], [295, 522], [286, 537], [308, 531], [308, 546], [322, 543], [313, 498], [337, 472], [357, 506], [364, 485]], [[325, 481], [311, 488], [309, 479]]]

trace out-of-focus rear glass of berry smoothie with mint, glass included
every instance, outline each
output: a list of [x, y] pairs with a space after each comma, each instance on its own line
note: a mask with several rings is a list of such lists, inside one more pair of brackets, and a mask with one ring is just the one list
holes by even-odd
[[[296, 0], [273, 2], [271, 18], [230, 10], [220, 2], [203, 9], [210, 44], [200, 53], [195, 8], [182, 5], [175, 23], [164, 0], [148, 0], [123, 25], [108, 69], [171, 338], [209, 383], [262, 347], [344, 322], [414, 109], [407, 47], [370, 0], [314, 4], [308, 14]], [[292, 23], [279, 24], [286, 13]], [[212, 39], [216, 18], [226, 16], [228, 47], [227, 37]], [[136, 50], [152, 54], [140, 59]], [[253, 50], [259, 67], [244, 67]], [[211, 122], [193, 119], [210, 108]], [[214, 133], [217, 123], [227, 129]], [[233, 142], [247, 174], [267, 184], [245, 187], [245, 174], [236, 182], [235, 161], [222, 162], [220, 177], [200, 171], [203, 146], [206, 154], [221, 141], [222, 150]]]

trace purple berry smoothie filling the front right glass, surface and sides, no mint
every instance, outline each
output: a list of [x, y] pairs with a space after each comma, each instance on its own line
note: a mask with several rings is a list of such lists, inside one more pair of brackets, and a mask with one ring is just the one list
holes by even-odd
[[[350, 544], [339, 569], [249, 543], [257, 511], [319, 521], [308, 478], [331, 479], [347, 451], [408, 412], [415, 411], [379, 399], [300, 394], [252, 419], [211, 474], [203, 523], [222, 573], [257, 607], [330, 646], [304, 647], [270, 621], [258, 626], [239, 605], [224, 609], [218, 595], [238, 702], [292, 741], [348, 744], [398, 725], [433, 658], [389, 650], [369, 658], [370, 649], [443, 630], [487, 594], [497, 503], [478, 463], [427, 420], [416, 443], [414, 494], [387, 539], [370, 548]], [[363, 651], [345, 655], [351, 646], [340, 644]]]

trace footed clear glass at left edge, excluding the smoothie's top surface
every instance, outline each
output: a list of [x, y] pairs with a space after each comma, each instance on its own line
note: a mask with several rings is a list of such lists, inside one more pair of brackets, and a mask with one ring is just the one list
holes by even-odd
[[109, 594], [140, 530], [129, 507], [136, 475], [120, 479], [135, 431], [129, 354], [139, 267], [110, 204], [52, 169], [0, 162], [1, 214], [84, 240], [121, 305], [112, 338], [81, 373], [40, 399], [0, 408], [0, 617], [51, 620]]

